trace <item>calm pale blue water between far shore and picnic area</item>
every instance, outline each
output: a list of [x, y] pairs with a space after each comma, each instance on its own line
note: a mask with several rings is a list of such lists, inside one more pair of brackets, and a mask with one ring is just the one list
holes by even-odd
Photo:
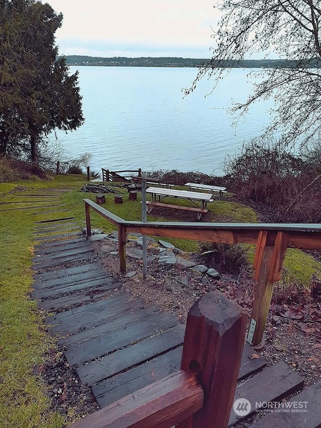
[[[76, 67], [70, 67], [74, 72]], [[227, 154], [268, 124], [272, 102], [258, 103], [234, 127], [227, 112], [252, 85], [247, 71], [231, 70], [207, 97], [213, 81], [203, 79], [183, 98], [193, 68], [79, 67], [85, 124], [58, 132], [70, 157], [92, 154], [90, 168], [143, 171], [177, 169], [222, 174]]]

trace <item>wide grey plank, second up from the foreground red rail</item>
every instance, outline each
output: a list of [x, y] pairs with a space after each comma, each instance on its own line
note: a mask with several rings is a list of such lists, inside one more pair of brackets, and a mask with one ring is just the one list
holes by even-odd
[[114, 376], [125, 369], [142, 364], [150, 358], [182, 345], [184, 333], [185, 325], [181, 324], [155, 336], [148, 337], [134, 345], [78, 367], [78, 376], [83, 383], [93, 386], [95, 383]]

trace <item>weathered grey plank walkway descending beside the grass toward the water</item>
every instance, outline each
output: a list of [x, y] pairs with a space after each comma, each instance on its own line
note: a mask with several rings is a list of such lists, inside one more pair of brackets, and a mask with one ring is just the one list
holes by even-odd
[[[59, 335], [67, 361], [92, 387], [100, 408], [180, 369], [185, 325], [173, 313], [122, 292], [73, 219], [38, 223], [35, 241], [32, 297], [53, 313], [46, 319], [49, 331]], [[303, 379], [285, 363], [266, 367], [262, 358], [249, 358], [254, 352], [244, 346], [239, 380], [251, 378], [240, 383], [235, 399], [279, 401], [302, 388]], [[313, 385], [300, 399], [313, 399], [319, 408], [320, 388]], [[304, 417], [309, 424], [299, 424]], [[240, 418], [232, 410], [229, 426]], [[252, 426], [321, 426], [314, 419], [311, 412], [290, 418], [271, 413]]]

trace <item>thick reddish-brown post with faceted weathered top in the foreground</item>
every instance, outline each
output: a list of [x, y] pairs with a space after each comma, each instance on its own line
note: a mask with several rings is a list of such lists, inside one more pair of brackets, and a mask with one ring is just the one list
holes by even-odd
[[190, 309], [181, 369], [199, 369], [204, 407], [178, 428], [227, 428], [246, 323], [246, 311], [220, 292], [206, 294]]

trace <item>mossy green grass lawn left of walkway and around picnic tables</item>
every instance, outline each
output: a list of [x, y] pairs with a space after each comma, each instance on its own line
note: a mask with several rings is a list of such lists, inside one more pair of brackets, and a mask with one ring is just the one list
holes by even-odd
[[[13, 192], [17, 186], [29, 191], [46, 188], [68, 189], [59, 200], [70, 209], [68, 216], [74, 216], [77, 223], [85, 226], [84, 198], [95, 200], [95, 195], [80, 192], [85, 178], [80, 176], [58, 176], [51, 181], [21, 181], [0, 184], [0, 203], [19, 202], [22, 191]], [[13, 192], [13, 193], [9, 193]], [[114, 195], [106, 195], [105, 208], [127, 220], [140, 220], [140, 194], [136, 202], [128, 201], [125, 189], [123, 204], [113, 203]], [[19, 196], [18, 196], [19, 195]], [[30, 197], [30, 200], [34, 198]], [[182, 205], [188, 201], [179, 201]], [[37, 203], [38, 204], [38, 203]], [[46, 204], [46, 201], [39, 202]], [[33, 206], [30, 203], [29, 206]], [[32, 290], [31, 258], [33, 254], [34, 220], [47, 219], [48, 214], [31, 217], [28, 210], [4, 211], [10, 206], [19, 208], [22, 204], [1, 205], [0, 245], [0, 421], [8, 428], [59, 428], [65, 420], [49, 410], [46, 388], [39, 375], [33, 374], [35, 364], [44, 361], [46, 350], [54, 346], [51, 337], [43, 332], [43, 316], [29, 299]], [[211, 221], [256, 222], [253, 210], [241, 204], [215, 201], [208, 206]], [[53, 214], [54, 216], [54, 214]], [[148, 216], [148, 220], [166, 221], [166, 218]], [[115, 227], [91, 211], [92, 227], [105, 232]], [[192, 240], [168, 239], [186, 251], [197, 251], [198, 243]], [[321, 264], [299, 250], [288, 250], [285, 266], [289, 279], [308, 283], [313, 272], [321, 271]]]

